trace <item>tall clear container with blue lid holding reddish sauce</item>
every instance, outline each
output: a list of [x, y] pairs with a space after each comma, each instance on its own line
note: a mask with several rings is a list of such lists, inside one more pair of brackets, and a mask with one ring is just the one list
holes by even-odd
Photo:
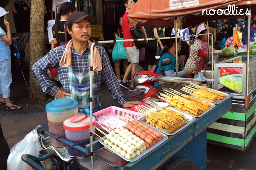
[[[73, 116], [78, 115], [78, 102], [69, 98], [60, 98], [52, 100], [45, 106], [47, 113], [49, 132], [56, 136], [65, 135], [63, 122]], [[51, 137], [51, 145], [62, 148], [66, 144], [58, 142], [55, 138]]]

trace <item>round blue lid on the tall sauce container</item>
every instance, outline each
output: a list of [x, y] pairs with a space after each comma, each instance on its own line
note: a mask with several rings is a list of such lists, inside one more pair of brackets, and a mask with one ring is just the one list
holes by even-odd
[[46, 112], [51, 113], [62, 113], [72, 111], [78, 108], [78, 102], [69, 98], [60, 98], [52, 100], [50, 103], [46, 104]]

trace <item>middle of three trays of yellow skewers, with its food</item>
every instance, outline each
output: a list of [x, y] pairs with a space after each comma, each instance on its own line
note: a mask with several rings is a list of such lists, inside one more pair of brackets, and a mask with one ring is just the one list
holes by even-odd
[[213, 103], [206, 102], [193, 96], [182, 94], [175, 90], [165, 90], [164, 93], [160, 93], [162, 97], [158, 97], [169, 103], [171, 107], [174, 107], [175, 109], [180, 110], [182, 112], [188, 113], [193, 117], [201, 117], [205, 113], [209, 112], [215, 106], [215, 104]]

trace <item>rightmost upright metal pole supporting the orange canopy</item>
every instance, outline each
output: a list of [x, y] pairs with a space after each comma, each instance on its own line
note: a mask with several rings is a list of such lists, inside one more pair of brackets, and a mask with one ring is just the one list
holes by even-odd
[[[251, 13], [251, 6], [249, 5], [249, 14]], [[247, 33], [247, 62], [246, 62], [246, 96], [245, 108], [249, 107], [249, 63], [250, 63], [250, 27], [251, 15], [248, 15], [248, 33]]]

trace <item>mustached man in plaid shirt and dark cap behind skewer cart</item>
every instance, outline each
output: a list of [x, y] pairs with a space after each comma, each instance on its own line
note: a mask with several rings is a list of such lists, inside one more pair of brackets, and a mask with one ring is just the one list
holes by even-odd
[[[72, 13], [71, 27], [68, 25], [68, 32], [71, 34], [73, 40], [71, 68], [75, 72], [85, 72], [90, 65], [90, 63], [88, 63], [88, 56], [90, 53], [88, 40], [91, 35], [91, 20], [91, 15], [75, 12]], [[54, 48], [32, 66], [33, 77], [38, 79], [43, 92], [56, 98], [70, 96], [68, 68], [59, 65], [65, 47], [66, 45]], [[123, 107], [133, 107], [134, 105], [139, 104], [140, 102], [127, 102], [112, 70], [107, 52], [102, 46], [96, 46], [96, 48], [98, 49], [102, 60], [102, 71], [94, 71], [97, 89], [100, 90], [101, 80], [103, 80], [111, 93], [112, 99]], [[63, 88], [56, 86], [47, 75], [46, 70], [53, 67], [57, 69], [59, 81], [63, 85]]]

